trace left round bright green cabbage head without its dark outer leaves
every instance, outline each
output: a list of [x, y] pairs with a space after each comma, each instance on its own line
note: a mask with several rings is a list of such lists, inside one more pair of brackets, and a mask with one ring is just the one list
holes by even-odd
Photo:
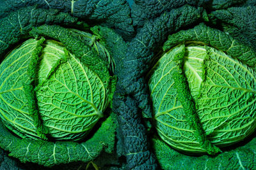
[[0, 117], [21, 138], [83, 138], [108, 105], [108, 87], [52, 39], [31, 38], [0, 65]]

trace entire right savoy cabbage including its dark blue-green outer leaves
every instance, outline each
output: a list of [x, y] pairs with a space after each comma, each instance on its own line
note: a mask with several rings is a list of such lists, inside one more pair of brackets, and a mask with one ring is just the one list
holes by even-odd
[[134, 1], [113, 98], [130, 169], [255, 169], [255, 16], [255, 1]]

